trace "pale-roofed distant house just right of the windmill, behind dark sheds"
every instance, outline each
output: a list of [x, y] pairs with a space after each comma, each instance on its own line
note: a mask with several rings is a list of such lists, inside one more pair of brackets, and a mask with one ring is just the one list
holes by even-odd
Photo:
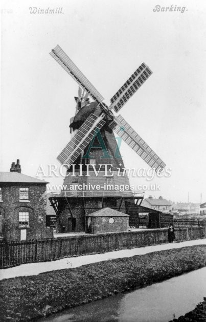
[[172, 203], [166, 199], [163, 199], [162, 196], [159, 196], [158, 199], [149, 196], [149, 198], [145, 198], [143, 200], [141, 205], [165, 213], [169, 212], [172, 209]]

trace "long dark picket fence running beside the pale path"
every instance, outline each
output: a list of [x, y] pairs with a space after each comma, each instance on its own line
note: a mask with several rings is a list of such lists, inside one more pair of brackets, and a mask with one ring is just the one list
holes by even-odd
[[[177, 228], [176, 241], [206, 236], [206, 227]], [[167, 229], [0, 243], [0, 268], [167, 242]]]

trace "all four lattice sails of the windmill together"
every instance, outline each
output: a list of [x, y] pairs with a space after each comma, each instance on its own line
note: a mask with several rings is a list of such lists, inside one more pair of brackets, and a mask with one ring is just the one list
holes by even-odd
[[[82, 124], [78, 127], [75, 137], [66, 145], [58, 156], [61, 164], [74, 163], [78, 156], [86, 149], [91, 137], [94, 135], [95, 127], [102, 129], [103, 125], [110, 127], [122, 137], [122, 139], [136, 152], [151, 168], [157, 171], [166, 165], [156, 153], [147, 145], [142, 137], [136, 133], [130, 125], [121, 117], [115, 117], [112, 110], [118, 112], [132, 95], [143, 85], [143, 83], [151, 76], [152, 71], [142, 63], [117, 93], [111, 98], [111, 105], [108, 107], [103, 103], [103, 96], [82, 74], [74, 62], [64, 53], [59, 45], [50, 53], [52, 57], [70, 74], [77, 83], [93, 98], [98, 105], [94, 109], [91, 108], [93, 115], [90, 115], [90, 105], [85, 107], [88, 109], [87, 117], [83, 118]], [[83, 107], [84, 108], [84, 107]], [[99, 108], [99, 110], [98, 110]], [[96, 114], [96, 115], [95, 115]], [[104, 135], [104, 132], [103, 132]]]

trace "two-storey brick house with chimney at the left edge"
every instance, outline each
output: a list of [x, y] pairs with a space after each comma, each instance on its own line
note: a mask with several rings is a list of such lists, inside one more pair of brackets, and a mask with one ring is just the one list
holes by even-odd
[[53, 237], [45, 227], [47, 182], [21, 173], [19, 160], [0, 172], [0, 234], [6, 240]]

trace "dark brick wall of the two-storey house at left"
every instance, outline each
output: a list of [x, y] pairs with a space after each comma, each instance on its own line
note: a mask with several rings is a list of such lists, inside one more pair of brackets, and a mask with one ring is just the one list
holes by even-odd
[[[3, 234], [7, 240], [20, 240], [19, 212], [29, 213], [27, 239], [38, 239], [48, 236], [45, 228], [46, 185], [37, 183], [2, 183]], [[19, 188], [29, 188], [29, 201], [19, 201]], [[51, 234], [49, 234], [50, 237]]]

